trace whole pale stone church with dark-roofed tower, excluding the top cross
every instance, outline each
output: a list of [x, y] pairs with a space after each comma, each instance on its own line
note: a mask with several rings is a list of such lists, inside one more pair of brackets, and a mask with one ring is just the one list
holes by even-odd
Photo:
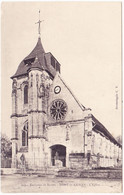
[[12, 167], [119, 166], [121, 145], [61, 77], [61, 65], [41, 38], [19, 64], [12, 83]]

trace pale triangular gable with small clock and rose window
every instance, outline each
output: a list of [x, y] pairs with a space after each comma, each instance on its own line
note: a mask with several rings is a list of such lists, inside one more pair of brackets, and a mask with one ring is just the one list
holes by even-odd
[[[57, 108], [59, 111], [58, 105], [61, 107], [63, 113], [58, 114], [56, 118], [56, 113], [54, 114], [53, 112], [54, 110], [56, 112]], [[50, 88], [48, 122], [81, 120], [84, 118], [84, 109], [59, 73], [57, 73]]]

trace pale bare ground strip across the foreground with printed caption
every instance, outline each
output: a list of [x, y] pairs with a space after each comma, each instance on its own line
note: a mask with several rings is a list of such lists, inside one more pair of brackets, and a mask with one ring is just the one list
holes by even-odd
[[50, 192], [122, 192], [121, 180], [88, 179], [88, 178], [52, 178], [22, 175], [1, 176], [2, 192], [28, 192], [28, 193], [50, 193]]

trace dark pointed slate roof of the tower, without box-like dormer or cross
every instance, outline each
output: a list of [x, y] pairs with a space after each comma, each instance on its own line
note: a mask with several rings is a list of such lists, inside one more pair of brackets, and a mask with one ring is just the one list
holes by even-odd
[[[56, 71], [47, 64], [47, 59], [45, 57], [46, 53], [42, 46], [41, 39], [38, 38], [38, 42], [32, 52], [25, 57], [22, 62], [19, 64], [16, 73], [11, 77], [12, 79], [15, 77], [19, 77], [22, 75], [26, 75], [30, 68], [38, 68], [46, 70], [52, 77], [55, 76]], [[37, 61], [36, 61], [37, 59]]]

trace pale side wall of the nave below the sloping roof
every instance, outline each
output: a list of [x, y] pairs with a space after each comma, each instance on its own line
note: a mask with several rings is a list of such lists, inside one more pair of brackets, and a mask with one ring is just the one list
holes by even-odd
[[91, 155], [92, 167], [114, 167], [121, 160], [121, 148], [104, 135], [92, 131]]

